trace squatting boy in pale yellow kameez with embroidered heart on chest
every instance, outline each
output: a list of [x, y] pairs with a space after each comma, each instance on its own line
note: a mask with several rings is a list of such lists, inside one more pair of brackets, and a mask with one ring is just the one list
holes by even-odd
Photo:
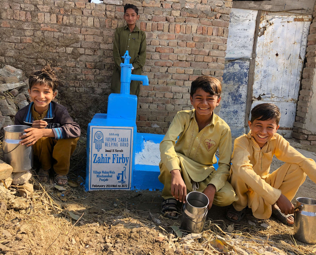
[[[173, 118], [160, 143], [159, 181], [164, 184], [161, 213], [176, 219], [177, 200], [185, 203], [187, 191], [200, 191], [212, 204], [226, 206], [236, 201], [228, 183], [231, 132], [213, 110], [221, 100], [221, 82], [200, 76], [191, 83], [190, 100], [194, 109], [180, 111]], [[219, 149], [218, 168], [214, 168]]]

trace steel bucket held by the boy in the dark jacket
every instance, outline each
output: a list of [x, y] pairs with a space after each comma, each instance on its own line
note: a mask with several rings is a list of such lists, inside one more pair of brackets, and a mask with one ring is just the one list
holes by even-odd
[[26, 125], [12, 125], [3, 128], [3, 154], [4, 161], [13, 167], [13, 172], [24, 172], [33, 167], [33, 146], [27, 147], [19, 142], [20, 136], [29, 128]]

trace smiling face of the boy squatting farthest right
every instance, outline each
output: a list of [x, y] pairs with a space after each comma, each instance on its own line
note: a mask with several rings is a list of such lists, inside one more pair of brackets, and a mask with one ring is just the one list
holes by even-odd
[[249, 120], [248, 125], [250, 127], [252, 137], [258, 143], [260, 148], [262, 148], [274, 136], [280, 125], [277, 125], [274, 119], [259, 119], [255, 119], [252, 123]]

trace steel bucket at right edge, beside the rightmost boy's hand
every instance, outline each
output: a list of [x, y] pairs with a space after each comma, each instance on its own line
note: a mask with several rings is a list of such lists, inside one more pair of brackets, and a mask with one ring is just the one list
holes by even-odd
[[296, 198], [294, 238], [304, 243], [316, 243], [316, 199]]

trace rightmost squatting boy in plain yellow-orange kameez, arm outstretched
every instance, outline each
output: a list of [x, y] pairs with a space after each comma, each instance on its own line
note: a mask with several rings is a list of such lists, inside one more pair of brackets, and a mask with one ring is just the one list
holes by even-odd
[[[259, 104], [251, 111], [250, 132], [235, 139], [229, 180], [239, 199], [226, 215], [233, 222], [246, 215], [248, 206], [258, 219], [268, 219], [272, 214], [293, 226], [291, 200], [306, 175], [316, 182], [315, 161], [303, 156], [276, 133], [280, 117], [276, 105]], [[285, 163], [270, 174], [273, 155]]]

